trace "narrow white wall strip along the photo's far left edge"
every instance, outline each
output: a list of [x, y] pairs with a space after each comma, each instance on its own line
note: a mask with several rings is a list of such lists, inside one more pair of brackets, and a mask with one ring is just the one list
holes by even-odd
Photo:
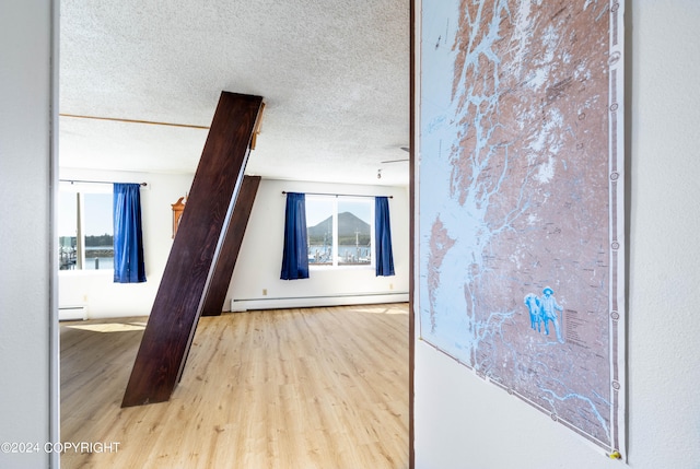
[[[51, 2], [0, 7], [0, 443], [36, 442], [38, 453], [0, 450], [0, 467], [42, 468], [57, 437], [51, 232]], [[56, 376], [54, 376], [56, 378]]]

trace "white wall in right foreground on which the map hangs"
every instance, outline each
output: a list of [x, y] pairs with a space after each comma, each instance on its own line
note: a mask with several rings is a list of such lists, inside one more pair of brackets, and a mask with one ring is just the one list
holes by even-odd
[[[700, 468], [700, 2], [627, 2], [628, 460]], [[547, 415], [416, 343], [416, 467], [619, 468]]]

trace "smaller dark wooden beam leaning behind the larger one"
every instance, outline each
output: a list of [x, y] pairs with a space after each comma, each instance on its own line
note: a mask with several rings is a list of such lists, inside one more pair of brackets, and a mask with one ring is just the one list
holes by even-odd
[[220, 316], [223, 310], [223, 304], [226, 301], [226, 292], [231, 284], [233, 269], [236, 267], [241, 245], [245, 228], [248, 225], [248, 219], [253, 211], [253, 202], [260, 185], [260, 176], [245, 176], [241, 192], [236, 199], [236, 206], [233, 209], [231, 222], [226, 228], [226, 234], [221, 246], [221, 255], [214, 266], [214, 273], [211, 278], [209, 290], [205, 296], [205, 306], [202, 307], [202, 316]]

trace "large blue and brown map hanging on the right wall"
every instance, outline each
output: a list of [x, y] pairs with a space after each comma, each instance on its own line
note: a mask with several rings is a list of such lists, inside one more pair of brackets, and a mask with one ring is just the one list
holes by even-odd
[[420, 21], [420, 338], [611, 454], [625, 443], [621, 10], [445, 0]]

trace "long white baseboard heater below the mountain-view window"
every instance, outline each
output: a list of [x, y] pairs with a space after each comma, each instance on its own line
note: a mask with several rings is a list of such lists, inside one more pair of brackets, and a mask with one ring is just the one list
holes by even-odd
[[408, 302], [408, 292], [355, 293], [351, 295], [232, 298], [232, 312], [283, 309], [318, 306], [346, 306]]

